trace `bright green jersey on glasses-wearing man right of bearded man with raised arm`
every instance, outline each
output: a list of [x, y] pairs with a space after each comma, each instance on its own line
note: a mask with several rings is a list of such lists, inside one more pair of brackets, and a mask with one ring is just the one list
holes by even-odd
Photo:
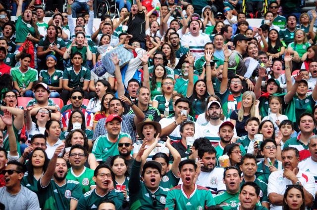
[[84, 167], [84, 170], [78, 176], [74, 174], [73, 168], [69, 168], [66, 179], [78, 181], [81, 184], [81, 188], [83, 190], [83, 194], [90, 191], [91, 187], [96, 186], [95, 181], [93, 180], [94, 170]]

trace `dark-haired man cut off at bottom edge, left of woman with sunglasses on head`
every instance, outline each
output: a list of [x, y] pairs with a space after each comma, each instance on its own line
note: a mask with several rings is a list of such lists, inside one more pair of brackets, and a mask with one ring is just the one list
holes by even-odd
[[244, 183], [239, 194], [240, 205], [232, 210], [267, 210], [259, 205], [260, 195], [261, 190], [256, 183], [251, 181]]

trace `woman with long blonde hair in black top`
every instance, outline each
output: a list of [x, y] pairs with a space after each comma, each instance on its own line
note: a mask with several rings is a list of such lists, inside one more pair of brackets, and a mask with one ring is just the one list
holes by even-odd
[[242, 94], [242, 106], [238, 111], [234, 111], [230, 115], [230, 122], [236, 127], [237, 135], [247, 135], [244, 126], [246, 121], [251, 117], [257, 117], [261, 120], [259, 114], [259, 101], [252, 91], [245, 91]]

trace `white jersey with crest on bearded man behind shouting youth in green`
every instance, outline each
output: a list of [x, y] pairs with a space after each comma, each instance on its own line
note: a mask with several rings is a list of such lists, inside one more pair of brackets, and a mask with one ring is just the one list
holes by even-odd
[[225, 191], [226, 186], [222, 181], [224, 168], [215, 167], [211, 172], [201, 171], [196, 184], [206, 187], [212, 194], [216, 195], [220, 191]]

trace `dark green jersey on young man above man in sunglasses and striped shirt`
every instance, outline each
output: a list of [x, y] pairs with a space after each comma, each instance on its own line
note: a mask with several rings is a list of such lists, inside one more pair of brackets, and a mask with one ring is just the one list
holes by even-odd
[[90, 81], [90, 70], [84, 66], [81, 66], [79, 73], [73, 69], [73, 66], [64, 70], [63, 80], [68, 80], [68, 87], [83, 87], [84, 81]]

